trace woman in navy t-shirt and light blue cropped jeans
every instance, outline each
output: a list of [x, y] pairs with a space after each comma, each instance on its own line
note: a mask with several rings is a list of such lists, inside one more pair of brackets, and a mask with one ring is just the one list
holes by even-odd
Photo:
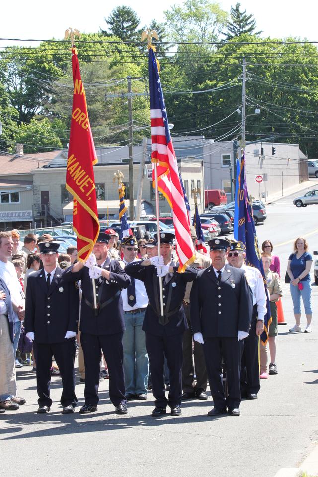
[[308, 244], [306, 239], [298, 237], [294, 242], [294, 253], [288, 258], [287, 273], [290, 278], [290, 293], [293, 299], [294, 315], [296, 324], [289, 332], [296, 333], [302, 331], [300, 325], [300, 297], [303, 299], [305, 314], [307, 319], [307, 326], [305, 333], [311, 332], [312, 321], [312, 306], [311, 293], [312, 287], [310, 282], [310, 269], [313, 263], [313, 258], [307, 251]]

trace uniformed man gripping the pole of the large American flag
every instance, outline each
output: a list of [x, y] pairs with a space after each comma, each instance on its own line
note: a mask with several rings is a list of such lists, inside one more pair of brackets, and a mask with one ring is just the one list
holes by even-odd
[[[155, 234], [157, 242], [157, 234]], [[183, 333], [188, 328], [182, 300], [187, 282], [192, 281], [197, 271], [188, 267], [184, 273], [178, 273], [178, 264], [171, 261], [174, 235], [160, 233], [160, 255], [150, 259], [132, 262], [125, 270], [131, 277], [145, 284], [149, 299], [146, 308], [143, 330], [146, 333], [146, 348], [149, 356], [152, 389], [155, 397], [153, 417], [166, 413], [166, 406], [171, 408], [171, 415], [181, 414], [181, 369]], [[160, 261], [163, 257], [163, 263]], [[163, 266], [162, 266], [163, 265]], [[163, 277], [163, 317], [160, 316], [159, 277]], [[164, 387], [164, 356], [170, 371], [170, 390], [168, 399]]]

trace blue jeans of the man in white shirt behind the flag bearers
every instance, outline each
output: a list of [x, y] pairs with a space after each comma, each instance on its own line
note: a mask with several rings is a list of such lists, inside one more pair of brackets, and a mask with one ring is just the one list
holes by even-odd
[[147, 393], [149, 359], [145, 332], [142, 330], [144, 317], [145, 311], [124, 312], [126, 330], [123, 348], [126, 395]]

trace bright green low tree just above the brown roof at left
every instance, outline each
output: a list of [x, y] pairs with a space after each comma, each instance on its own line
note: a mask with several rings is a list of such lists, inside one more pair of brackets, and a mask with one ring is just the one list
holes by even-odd
[[[29, 124], [21, 124], [15, 134], [15, 142], [24, 144], [24, 153], [35, 153], [49, 149], [61, 148], [62, 142], [53, 130], [47, 118], [33, 118]], [[10, 152], [14, 147], [9, 148]]]

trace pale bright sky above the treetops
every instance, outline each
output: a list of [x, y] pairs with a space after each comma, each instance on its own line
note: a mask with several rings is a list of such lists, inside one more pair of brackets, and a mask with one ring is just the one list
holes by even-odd
[[[39, 1], [14, 0], [2, 1], [0, 7], [0, 37], [41, 39], [62, 39], [68, 27], [77, 28], [80, 32], [93, 33], [100, 28], [105, 29], [104, 18], [108, 17], [116, 6], [127, 5], [133, 8], [141, 19], [141, 25], [148, 25], [155, 18], [164, 21], [164, 10], [182, 1], [160, 0], [112, 0], [107, 3], [100, 0]], [[283, 38], [299, 36], [310, 41], [318, 41], [317, 13], [318, 2], [315, 0], [241, 0], [241, 10], [252, 13], [256, 20], [257, 30], [262, 36]], [[230, 11], [236, 0], [219, 1], [221, 8]], [[300, 7], [301, 5], [301, 7]], [[316, 6], [315, 6], [316, 5]], [[316, 10], [316, 11], [315, 11]], [[1, 41], [0, 46], [34, 45], [34, 43]]]

